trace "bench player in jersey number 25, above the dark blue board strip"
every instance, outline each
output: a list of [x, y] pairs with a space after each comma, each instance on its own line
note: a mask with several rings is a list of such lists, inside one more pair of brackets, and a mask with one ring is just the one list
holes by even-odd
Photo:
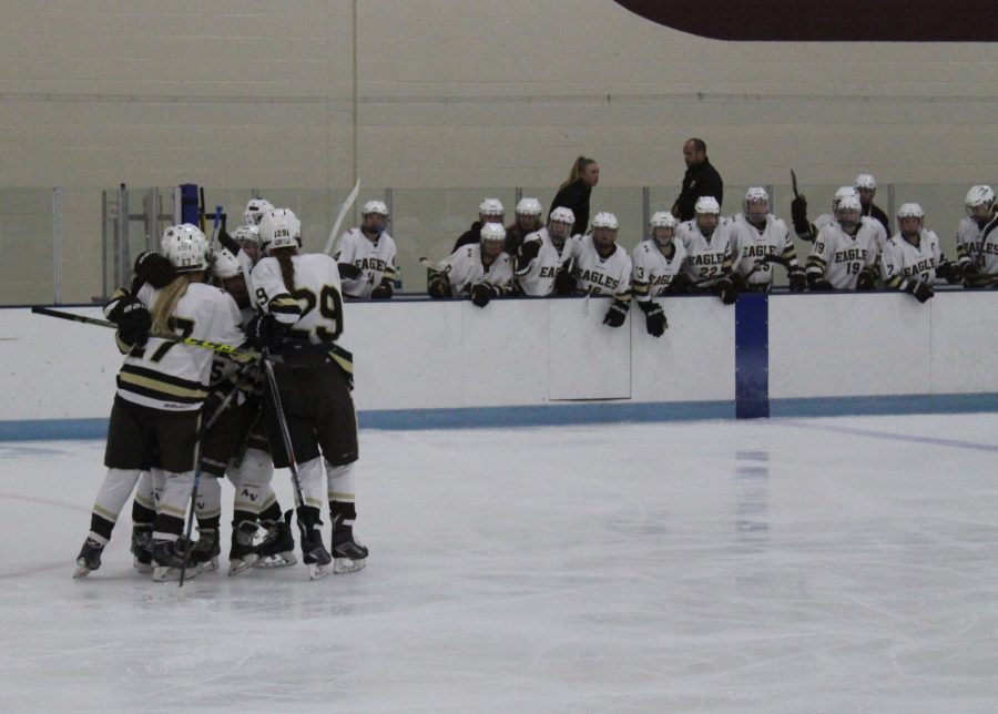
[[770, 194], [765, 188], [754, 186], [745, 192], [742, 212], [732, 221], [732, 279], [739, 290], [768, 292], [773, 286], [773, 263], [786, 268], [791, 290], [800, 293], [806, 287], [790, 232], [781, 218], [770, 213]]

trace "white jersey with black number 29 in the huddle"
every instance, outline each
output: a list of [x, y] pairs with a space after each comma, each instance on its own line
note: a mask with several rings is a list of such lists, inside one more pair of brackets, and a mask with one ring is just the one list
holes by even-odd
[[289, 332], [314, 345], [329, 345], [329, 357], [353, 373], [353, 355], [343, 336], [344, 310], [339, 268], [328, 255], [304, 253], [292, 256], [295, 285], [288, 290], [277, 258], [265, 257], [253, 268], [256, 302]]

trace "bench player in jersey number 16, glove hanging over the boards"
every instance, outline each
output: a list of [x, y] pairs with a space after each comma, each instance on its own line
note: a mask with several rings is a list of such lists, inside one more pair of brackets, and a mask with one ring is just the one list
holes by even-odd
[[620, 224], [612, 213], [600, 211], [592, 217], [592, 233], [577, 235], [566, 248], [577, 295], [612, 295], [603, 324], [620, 327], [631, 306], [631, 256], [617, 244]]

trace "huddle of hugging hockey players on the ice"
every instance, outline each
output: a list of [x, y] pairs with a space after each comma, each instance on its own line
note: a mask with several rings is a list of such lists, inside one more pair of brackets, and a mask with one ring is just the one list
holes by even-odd
[[[310, 578], [366, 563], [353, 534], [357, 421], [337, 264], [302, 253], [301, 221], [264, 200], [232, 235], [216, 233], [221, 249], [193, 224], [169, 227], [104, 306], [125, 358], [77, 578], [100, 568], [133, 492], [139, 572], [183, 581], [217, 569], [224, 478], [235, 493], [231, 575], [295, 564], [293, 513]], [[291, 469], [294, 511], [271, 487], [275, 467]]]

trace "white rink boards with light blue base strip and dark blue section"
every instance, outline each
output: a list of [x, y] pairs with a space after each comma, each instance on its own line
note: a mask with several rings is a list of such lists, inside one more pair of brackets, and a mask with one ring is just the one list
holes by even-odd
[[[998, 292], [663, 300], [669, 329], [607, 298], [348, 304], [361, 427], [434, 428], [998, 409]], [[93, 307], [69, 308], [99, 316]], [[0, 438], [101, 436], [111, 332], [0, 310]]]

